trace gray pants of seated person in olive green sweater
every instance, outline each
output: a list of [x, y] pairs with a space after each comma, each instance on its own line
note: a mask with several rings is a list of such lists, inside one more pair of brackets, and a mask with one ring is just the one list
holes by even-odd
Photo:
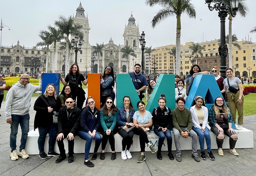
[[[181, 127], [181, 130], [183, 132], [186, 132], [188, 130], [187, 127]], [[174, 133], [174, 143], [176, 147], [176, 153], [181, 153], [181, 144], [180, 144], [180, 131], [178, 131], [176, 128], [173, 127], [173, 133]], [[197, 134], [195, 131], [190, 130], [189, 137], [192, 138], [192, 154], [197, 153]]]

